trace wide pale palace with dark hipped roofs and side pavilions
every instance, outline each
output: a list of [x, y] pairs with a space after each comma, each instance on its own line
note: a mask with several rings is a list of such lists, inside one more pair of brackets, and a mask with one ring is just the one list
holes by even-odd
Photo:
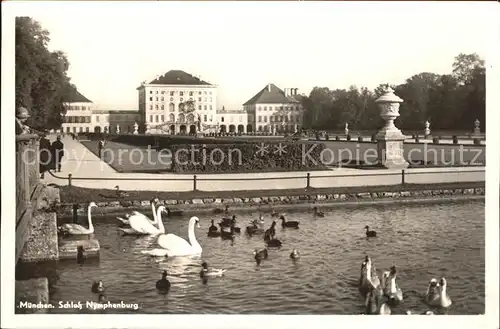
[[209, 132], [292, 133], [302, 126], [302, 95], [269, 83], [242, 109], [217, 110], [217, 86], [180, 70], [171, 70], [138, 88], [138, 111], [95, 110], [73, 90], [65, 102], [65, 133], [106, 132], [189, 134]]

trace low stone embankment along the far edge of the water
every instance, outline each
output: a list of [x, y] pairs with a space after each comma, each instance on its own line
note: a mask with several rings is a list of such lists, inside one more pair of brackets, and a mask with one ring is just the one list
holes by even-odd
[[[204, 198], [188, 200], [160, 200], [161, 205], [173, 208], [182, 208], [190, 212], [207, 212], [215, 208], [224, 208], [229, 205], [232, 210], [245, 209], [271, 209], [271, 208], [307, 208], [311, 204], [322, 206], [336, 205], [370, 205], [390, 203], [417, 203], [417, 202], [441, 202], [454, 199], [482, 199], [484, 198], [484, 187], [479, 188], [455, 188], [455, 189], [425, 189], [425, 190], [401, 190], [391, 192], [361, 192], [361, 193], [332, 193], [293, 196], [266, 196], [254, 198]], [[86, 204], [80, 204], [78, 214], [85, 214]], [[109, 201], [97, 202], [99, 207], [97, 214], [117, 214], [130, 210], [150, 209], [150, 201]], [[58, 219], [72, 216], [73, 205], [62, 205], [58, 209]]]

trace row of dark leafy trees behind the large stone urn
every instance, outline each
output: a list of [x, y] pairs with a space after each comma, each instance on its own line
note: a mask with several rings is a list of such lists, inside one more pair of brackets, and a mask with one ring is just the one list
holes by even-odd
[[[304, 126], [338, 130], [348, 123], [353, 130], [377, 130], [383, 122], [375, 100], [386, 86], [373, 91], [356, 86], [347, 90], [315, 87], [303, 99]], [[399, 128], [422, 130], [428, 120], [433, 130], [472, 130], [479, 119], [484, 130], [485, 67], [477, 54], [455, 57], [451, 74], [423, 72], [391, 88], [404, 100], [395, 121]]]

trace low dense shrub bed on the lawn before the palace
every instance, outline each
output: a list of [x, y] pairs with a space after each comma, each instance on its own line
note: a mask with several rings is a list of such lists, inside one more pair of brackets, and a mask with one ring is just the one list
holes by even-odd
[[[286, 156], [274, 152], [276, 146], [286, 149]], [[260, 143], [254, 144], [206, 144], [198, 152], [179, 152], [180, 149], [190, 149], [191, 145], [171, 145], [172, 167], [176, 173], [228, 173], [245, 171], [301, 171], [325, 169], [319, 161], [324, 144], [317, 146], [308, 153], [313, 161], [303, 159], [303, 145], [306, 152], [311, 144], [302, 143], [266, 143], [270, 152], [258, 153]], [[217, 150], [217, 151], [216, 151]], [[241, 156], [240, 156], [241, 155]], [[194, 161], [193, 161], [194, 160]], [[213, 160], [213, 161], [212, 161]]]

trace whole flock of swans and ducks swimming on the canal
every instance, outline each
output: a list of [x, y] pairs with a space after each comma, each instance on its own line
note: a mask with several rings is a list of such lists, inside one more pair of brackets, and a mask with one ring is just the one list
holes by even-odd
[[[185, 239], [172, 234], [165, 233], [165, 227], [162, 221], [162, 214], [166, 214], [168, 217], [182, 216], [183, 213], [180, 210], [170, 210], [163, 205], [156, 208], [158, 204], [158, 199], [151, 200], [151, 208], [153, 213], [153, 219], [151, 220], [146, 215], [133, 211], [129, 214], [125, 214], [124, 217], [117, 217], [121, 225], [124, 227], [119, 227], [119, 230], [124, 234], [133, 235], [151, 235], [156, 237], [156, 243], [159, 248], [154, 248], [151, 250], [143, 250], [142, 253], [154, 257], [180, 257], [180, 256], [195, 256], [201, 255], [202, 247], [196, 240], [194, 228], [200, 228], [199, 218], [191, 217], [188, 225], [188, 239]], [[64, 224], [59, 227], [59, 231], [62, 234], [69, 235], [83, 235], [94, 233], [94, 226], [92, 224], [91, 209], [97, 207], [94, 202], [91, 202], [88, 206], [88, 228], [79, 224]], [[317, 207], [313, 208], [315, 217], [324, 217], [324, 213], [320, 212]], [[214, 209], [216, 214], [225, 214], [222, 220], [218, 223], [219, 228], [215, 225], [215, 221], [211, 221], [211, 225], [208, 228], [207, 236], [211, 238], [221, 238], [223, 240], [234, 241], [236, 234], [241, 233], [241, 228], [236, 226], [236, 215], [229, 215], [229, 206], [225, 209]], [[259, 215], [259, 219], [252, 220], [245, 228], [245, 234], [248, 236], [263, 235], [263, 240], [266, 245], [263, 249], [255, 249], [254, 259], [257, 265], [268, 258], [269, 250], [268, 248], [281, 248], [282, 242], [276, 237], [276, 218], [281, 221], [281, 226], [283, 229], [292, 228], [298, 229], [298, 221], [287, 221], [284, 214], [278, 214], [273, 211], [271, 217], [275, 218], [268, 229], [264, 229], [264, 218], [262, 214]], [[377, 237], [375, 231], [370, 230], [369, 226], [365, 226], [365, 235], [367, 238]], [[78, 248], [78, 257], [83, 257], [83, 247]], [[293, 249], [290, 253], [290, 258], [292, 260], [297, 260], [300, 258], [300, 253], [297, 249]], [[223, 276], [226, 270], [224, 269], [210, 269], [207, 262], [201, 264], [202, 269], [200, 270], [200, 277], [204, 280], [208, 277], [220, 277]], [[361, 274], [359, 278], [359, 291], [364, 298], [364, 307], [366, 314], [391, 314], [391, 307], [397, 305], [403, 300], [403, 292], [399, 285], [396, 283], [397, 269], [392, 266], [388, 271], [382, 273], [382, 280], [379, 279], [375, 266], [372, 263], [370, 257], [366, 256], [365, 260], [361, 264]], [[156, 283], [156, 288], [158, 291], [163, 293], [168, 293], [170, 289], [170, 282], [167, 279], [167, 271], [163, 271], [162, 278]], [[443, 277], [438, 282], [436, 279], [431, 279], [427, 292], [425, 293], [423, 299], [431, 307], [447, 308], [451, 305], [451, 299], [447, 293], [447, 283], [446, 279]], [[92, 292], [99, 294], [99, 300], [105, 298], [104, 296], [104, 285], [102, 281], [96, 281], [92, 285]], [[407, 314], [412, 314], [407, 311]], [[434, 314], [432, 311], [426, 311], [422, 314], [431, 315]]]

